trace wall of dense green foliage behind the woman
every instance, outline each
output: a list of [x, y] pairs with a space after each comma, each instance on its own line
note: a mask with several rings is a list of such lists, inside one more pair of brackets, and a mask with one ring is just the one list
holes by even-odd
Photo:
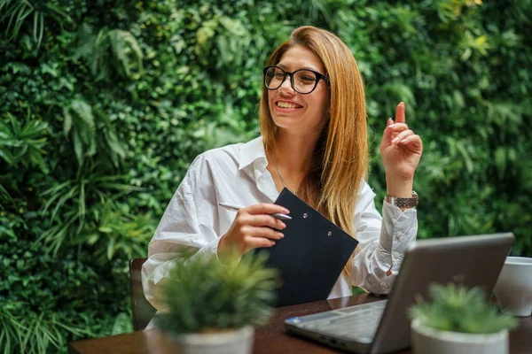
[[512, 231], [532, 256], [531, 21], [530, 0], [0, 0], [0, 350], [130, 330], [129, 258], [195, 156], [258, 135], [262, 67], [301, 25], [364, 75], [377, 204], [404, 101], [419, 237]]

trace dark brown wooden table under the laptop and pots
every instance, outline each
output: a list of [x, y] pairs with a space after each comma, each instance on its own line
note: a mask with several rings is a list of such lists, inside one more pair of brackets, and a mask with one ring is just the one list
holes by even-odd
[[[379, 297], [358, 295], [281, 307], [276, 310], [268, 326], [257, 329], [254, 340], [254, 354], [338, 353], [340, 351], [333, 350], [317, 342], [309, 342], [292, 335], [286, 335], [285, 319], [339, 309], [354, 304], [370, 303], [376, 300], [379, 300]], [[68, 344], [68, 351], [71, 354], [166, 354], [175, 352], [172, 350], [171, 342], [168, 341], [167, 337], [157, 330], [137, 331], [125, 335], [71, 342]], [[411, 350], [403, 350], [400, 353], [410, 352]], [[510, 353], [532, 353], [532, 318], [520, 318], [519, 327], [510, 333]]]

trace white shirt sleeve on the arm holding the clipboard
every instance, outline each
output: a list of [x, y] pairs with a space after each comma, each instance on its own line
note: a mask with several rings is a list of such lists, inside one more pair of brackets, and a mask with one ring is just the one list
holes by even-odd
[[168, 270], [181, 251], [196, 250], [194, 258], [200, 255], [217, 257], [220, 236], [215, 225], [218, 215], [209, 174], [201, 156], [192, 162], [148, 246], [142, 284], [146, 299], [158, 311], [165, 310], [161, 285], [168, 281]]

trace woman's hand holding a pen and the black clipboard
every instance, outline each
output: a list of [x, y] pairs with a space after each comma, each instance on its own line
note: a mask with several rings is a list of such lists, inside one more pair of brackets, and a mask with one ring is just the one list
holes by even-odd
[[285, 223], [270, 214], [287, 214], [289, 211], [277, 204], [254, 204], [239, 209], [227, 233], [218, 243], [218, 251], [237, 250], [240, 254], [261, 247], [271, 247], [284, 237], [278, 230]]

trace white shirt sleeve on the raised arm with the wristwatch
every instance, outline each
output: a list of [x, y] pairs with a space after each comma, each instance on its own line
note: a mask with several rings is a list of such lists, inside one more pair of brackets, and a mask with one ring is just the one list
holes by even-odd
[[[418, 235], [415, 208], [401, 211], [386, 201], [382, 217], [375, 207], [375, 193], [367, 183], [361, 189], [355, 212], [356, 247], [353, 258], [353, 285], [374, 294], [387, 294], [403, 262], [404, 252]], [[387, 270], [392, 265], [392, 273]]]

